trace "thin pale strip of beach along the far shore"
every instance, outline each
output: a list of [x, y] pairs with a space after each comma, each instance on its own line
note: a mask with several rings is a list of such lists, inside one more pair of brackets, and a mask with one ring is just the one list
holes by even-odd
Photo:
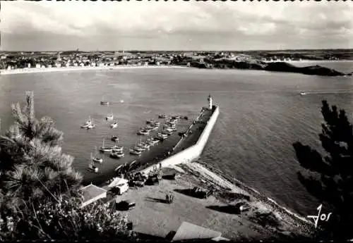
[[72, 72], [85, 70], [116, 70], [116, 69], [133, 69], [133, 68], [186, 68], [181, 66], [100, 66], [100, 67], [62, 67], [62, 68], [17, 68], [17, 69], [1, 69], [0, 75], [23, 74], [23, 73], [51, 73], [51, 72]]

